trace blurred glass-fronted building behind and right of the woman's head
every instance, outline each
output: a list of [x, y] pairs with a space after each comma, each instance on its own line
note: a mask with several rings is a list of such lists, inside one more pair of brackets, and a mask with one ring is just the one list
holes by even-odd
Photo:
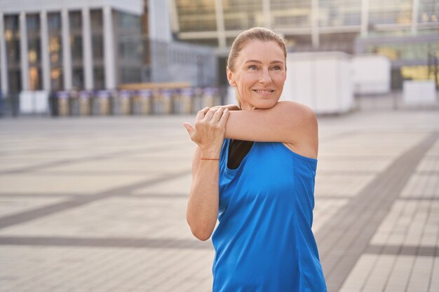
[[[220, 70], [240, 32], [269, 27], [285, 36], [290, 51], [386, 55], [394, 88], [437, 72], [438, 0], [170, 0], [170, 6], [175, 39], [217, 48]], [[225, 84], [225, 71], [219, 76]]]

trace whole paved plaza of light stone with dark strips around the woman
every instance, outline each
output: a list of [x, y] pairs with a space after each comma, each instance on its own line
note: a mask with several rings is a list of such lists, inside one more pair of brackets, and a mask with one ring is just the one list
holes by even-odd
[[[1, 119], [0, 292], [211, 291], [212, 244], [185, 218], [193, 120]], [[328, 291], [438, 292], [439, 111], [319, 117], [319, 132]]]

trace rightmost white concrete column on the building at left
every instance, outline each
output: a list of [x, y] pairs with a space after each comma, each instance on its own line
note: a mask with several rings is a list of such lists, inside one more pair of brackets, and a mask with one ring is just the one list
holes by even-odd
[[104, 21], [104, 71], [105, 88], [116, 88], [116, 60], [114, 55], [114, 30], [112, 8], [104, 6], [102, 9]]

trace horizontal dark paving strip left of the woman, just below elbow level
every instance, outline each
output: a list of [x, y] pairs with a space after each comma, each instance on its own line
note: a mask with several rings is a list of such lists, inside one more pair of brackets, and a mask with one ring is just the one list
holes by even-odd
[[123, 238], [123, 237], [21, 237], [0, 236], [0, 246], [82, 246], [138, 249], [213, 249], [210, 241], [175, 238]]

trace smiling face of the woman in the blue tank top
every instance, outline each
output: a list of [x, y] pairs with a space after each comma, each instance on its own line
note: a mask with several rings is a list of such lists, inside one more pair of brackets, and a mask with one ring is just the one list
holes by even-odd
[[285, 55], [276, 41], [250, 41], [236, 57], [227, 78], [236, 88], [241, 109], [270, 109], [279, 100], [285, 83]]

